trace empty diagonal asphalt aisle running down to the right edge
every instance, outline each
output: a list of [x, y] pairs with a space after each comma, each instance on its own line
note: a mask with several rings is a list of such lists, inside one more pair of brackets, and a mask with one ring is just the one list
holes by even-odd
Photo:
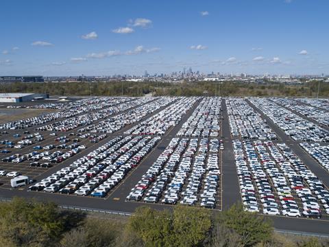
[[310, 170], [315, 174], [315, 176], [323, 181], [326, 187], [329, 187], [329, 176], [328, 172], [326, 172], [326, 169], [321, 167], [321, 165], [319, 165], [319, 163], [317, 163], [309, 154], [302, 150], [300, 145], [288, 137], [287, 134], [285, 134], [278, 126], [276, 126], [276, 124], [274, 124], [269, 117], [267, 117], [267, 115], [265, 115], [261, 110], [249, 102], [249, 99], [247, 99], [247, 102], [250, 104], [250, 106], [252, 106], [252, 108], [257, 110], [264, 119], [266, 119], [267, 124], [269, 124], [269, 126], [272, 128], [272, 130], [274, 130], [274, 132], [276, 132], [276, 134], [278, 134], [278, 137], [280, 137], [282, 142], [286, 143], [289, 148], [291, 148], [291, 150], [293, 150], [293, 152], [302, 160], [302, 162], [308, 165]]

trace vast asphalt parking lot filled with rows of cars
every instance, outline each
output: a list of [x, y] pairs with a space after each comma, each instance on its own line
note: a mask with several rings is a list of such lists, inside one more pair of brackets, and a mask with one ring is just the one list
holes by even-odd
[[[243, 202], [291, 229], [295, 217], [327, 222], [326, 120], [302, 115], [308, 99], [284, 102], [103, 97], [38, 104], [58, 112], [0, 127], [0, 191], [121, 211], [141, 204], [222, 210]], [[324, 113], [328, 105], [308, 109]], [[36, 181], [12, 189], [9, 172]]]

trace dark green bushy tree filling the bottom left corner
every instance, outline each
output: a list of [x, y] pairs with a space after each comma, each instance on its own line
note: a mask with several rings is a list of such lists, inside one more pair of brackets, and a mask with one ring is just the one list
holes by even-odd
[[0, 237], [13, 246], [53, 246], [65, 228], [64, 217], [51, 202], [14, 198], [1, 203]]

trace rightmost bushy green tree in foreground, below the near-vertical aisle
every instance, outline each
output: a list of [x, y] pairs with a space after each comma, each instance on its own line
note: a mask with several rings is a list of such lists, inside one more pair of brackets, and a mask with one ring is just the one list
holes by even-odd
[[234, 204], [227, 211], [223, 211], [217, 219], [217, 224], [223, 224], [238, 233], [243, 246], [267, 242], [273, 233], [269, 220], [256, 213], [244, 211], [241, 204]]

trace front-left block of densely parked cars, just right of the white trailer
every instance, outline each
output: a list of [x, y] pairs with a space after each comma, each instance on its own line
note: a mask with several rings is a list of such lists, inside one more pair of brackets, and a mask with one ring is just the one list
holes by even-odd
[[29, 190], [102, 198], [141, 162], [159, 140], [160, 137], [115, 137], [32, 185]]

